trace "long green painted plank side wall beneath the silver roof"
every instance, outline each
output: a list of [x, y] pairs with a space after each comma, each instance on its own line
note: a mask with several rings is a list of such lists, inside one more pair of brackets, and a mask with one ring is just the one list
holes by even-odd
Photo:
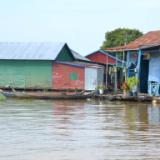
[[0, 60], [0, 87], [52, 88], [51, 61]]

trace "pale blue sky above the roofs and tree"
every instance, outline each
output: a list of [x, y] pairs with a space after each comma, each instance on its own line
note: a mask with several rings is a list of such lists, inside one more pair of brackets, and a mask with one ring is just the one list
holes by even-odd
[[0, 41], [67, 42], [87, 55], [124, 27], [160, 30], [160, 0], [0, 0]]

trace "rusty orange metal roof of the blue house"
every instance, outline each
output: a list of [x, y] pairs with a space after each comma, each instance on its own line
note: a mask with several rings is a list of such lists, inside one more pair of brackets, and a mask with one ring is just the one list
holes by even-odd
[[138, 50], [160, 45], [160, 30], [151, 31], [124, 46], [106, 48], [107, 51]]

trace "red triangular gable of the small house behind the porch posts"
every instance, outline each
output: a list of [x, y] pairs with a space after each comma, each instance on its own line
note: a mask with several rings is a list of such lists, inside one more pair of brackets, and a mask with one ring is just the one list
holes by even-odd
[[99, 62], [102, 64], [107, 64], [107, 57], [108, 57], [108, 64], [116, 64], [116, 60], [114, 58], [111, 58], [100, 52], [96, 52], [94, 54], [87, 56], [87, 58], [90, 59], [91, 61]]

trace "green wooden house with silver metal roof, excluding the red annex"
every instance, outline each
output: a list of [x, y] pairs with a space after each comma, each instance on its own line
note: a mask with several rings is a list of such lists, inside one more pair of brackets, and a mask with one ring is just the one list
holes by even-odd
[[54, 61], [88, 61], [66, 43], [0, 43], [0, 88], [52, 89]]

